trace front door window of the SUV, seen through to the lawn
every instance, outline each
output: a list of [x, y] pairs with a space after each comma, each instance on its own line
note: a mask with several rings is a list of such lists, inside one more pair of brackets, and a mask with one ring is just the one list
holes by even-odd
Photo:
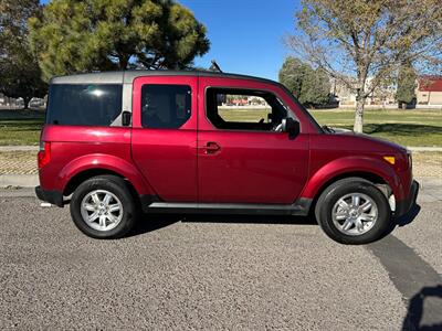
[[208, 88], [206, 111], [212, 125], [228, 130], [281, 131], [287, 110], [272, 93]]

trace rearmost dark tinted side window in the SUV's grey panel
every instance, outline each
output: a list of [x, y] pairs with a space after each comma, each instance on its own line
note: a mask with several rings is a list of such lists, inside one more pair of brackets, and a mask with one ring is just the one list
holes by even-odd
[[110, 126], [122, 113], [122, 95], [117, 84], [51, 85], [46, 124]]

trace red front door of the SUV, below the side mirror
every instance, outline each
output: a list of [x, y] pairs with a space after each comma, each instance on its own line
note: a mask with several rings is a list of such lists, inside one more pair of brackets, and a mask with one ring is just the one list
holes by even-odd
[[308, 134], [302, 127], [290, 139], [281, 131], [282, 119], [296, 116], [271, 88], [276, 89], [200, 77], [199, 202], [291, 204], [299, 195], [308, 172]]

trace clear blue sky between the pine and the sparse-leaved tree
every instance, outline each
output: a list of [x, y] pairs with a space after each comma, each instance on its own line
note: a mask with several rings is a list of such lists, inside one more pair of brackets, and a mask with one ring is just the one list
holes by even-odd
[[[42, 1], [49, 2], [49, 1]], [[277, 79], [290, 51], [283, 43], [294, 32], [296, 0], [178, 0], [202, 22], [211, 42], [198, 66], [217, 60], [224, 72]]]

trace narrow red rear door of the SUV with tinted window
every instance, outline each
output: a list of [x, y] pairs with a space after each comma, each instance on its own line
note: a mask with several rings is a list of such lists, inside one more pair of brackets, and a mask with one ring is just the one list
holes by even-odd
[[133, 159], [166, 202], [196, 202], [197, 84], [192, 76], [134, 81]]

